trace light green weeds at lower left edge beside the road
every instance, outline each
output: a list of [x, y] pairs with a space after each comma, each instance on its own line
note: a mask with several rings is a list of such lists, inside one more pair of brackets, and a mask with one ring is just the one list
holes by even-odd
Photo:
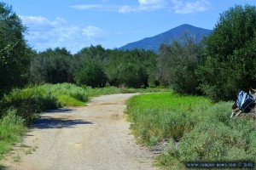
[[[11, 145], [20, 141], [20, 137], [26, 132], [24, 119], [16, 115], [15, 110], [6, 111], [0, 119], [0, 159], [11, 150]], [[1, 166], [0, 166], [1, 167]]]

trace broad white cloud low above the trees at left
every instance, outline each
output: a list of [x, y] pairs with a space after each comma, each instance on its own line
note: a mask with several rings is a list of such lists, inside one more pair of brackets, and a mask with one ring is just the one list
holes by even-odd
[[44, 51], [46, 48], [66, 47], [72, 53], [92, 43], [99, 44], [107, 34], [96, 26], [73, 26], [66, 20], [48, 20], [42, 16], [20, 16], [28, 27], [26, 39], [32, 48]]

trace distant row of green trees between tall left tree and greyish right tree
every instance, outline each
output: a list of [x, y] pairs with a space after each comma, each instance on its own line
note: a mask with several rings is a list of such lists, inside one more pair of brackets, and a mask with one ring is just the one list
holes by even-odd
[[92, 88], [147, 88], [149, 84], [154, 86], [156, 59], [152, 51], [110, 50], [101, 45], [73, 55], [66, 48], [47, 49], [33, 57], [30, 77], [36, 84], [73, 82]]

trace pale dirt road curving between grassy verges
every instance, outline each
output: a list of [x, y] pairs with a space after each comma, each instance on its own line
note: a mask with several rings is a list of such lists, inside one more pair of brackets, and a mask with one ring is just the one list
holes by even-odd
[[135, 144], [125, 121], [125, 100], [133, 95], [96, 97], [86, 107], [43, 114], [3, 164], [20, 170], [156, 169], [153, 154]]

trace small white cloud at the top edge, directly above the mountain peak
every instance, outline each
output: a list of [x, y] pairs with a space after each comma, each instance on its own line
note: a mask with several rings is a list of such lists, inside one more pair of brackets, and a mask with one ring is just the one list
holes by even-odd
[[172, 4], [176, 14], [204, 12], [212, 8], [212, 5], [208, 0], [197, 0], [186, 3], [183, 3], [182, 0], [172, 0]]

